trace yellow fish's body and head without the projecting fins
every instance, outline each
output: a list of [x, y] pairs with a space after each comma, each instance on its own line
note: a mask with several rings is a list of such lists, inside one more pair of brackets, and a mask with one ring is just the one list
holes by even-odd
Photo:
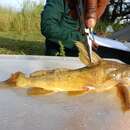
[[[38, 71], [26, 76], [17, 72], [6, 82], [15, 79], [15, 86], [21, 88], [43, 88], [54, 92], [61, 91], [105, 91], [119, 82], [129, 83], [129, 65], [102, 60], [96, 65], [75, 70], [58, 69]], [[90, 90], [89, 90], [90, 89]]]

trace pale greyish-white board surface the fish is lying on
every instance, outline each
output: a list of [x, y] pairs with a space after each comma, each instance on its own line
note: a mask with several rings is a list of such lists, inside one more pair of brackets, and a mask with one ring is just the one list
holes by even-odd
[[[12, 72], [78, 68], [78, 58], [0, 56], [0, 81]], [[65, 93], [29, 97], [24, 89], [0, 89], [0, 130], [130, 130], [116, 88], [69, 97]]]

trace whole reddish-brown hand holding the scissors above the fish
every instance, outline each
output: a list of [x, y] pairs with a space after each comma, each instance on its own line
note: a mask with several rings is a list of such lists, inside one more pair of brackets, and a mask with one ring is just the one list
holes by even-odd
[[100, 19], [108, 0], [86, 0], [86, 17], [85, 24], [88, 28], [93, 28], [96, 25], [97, 19]]

